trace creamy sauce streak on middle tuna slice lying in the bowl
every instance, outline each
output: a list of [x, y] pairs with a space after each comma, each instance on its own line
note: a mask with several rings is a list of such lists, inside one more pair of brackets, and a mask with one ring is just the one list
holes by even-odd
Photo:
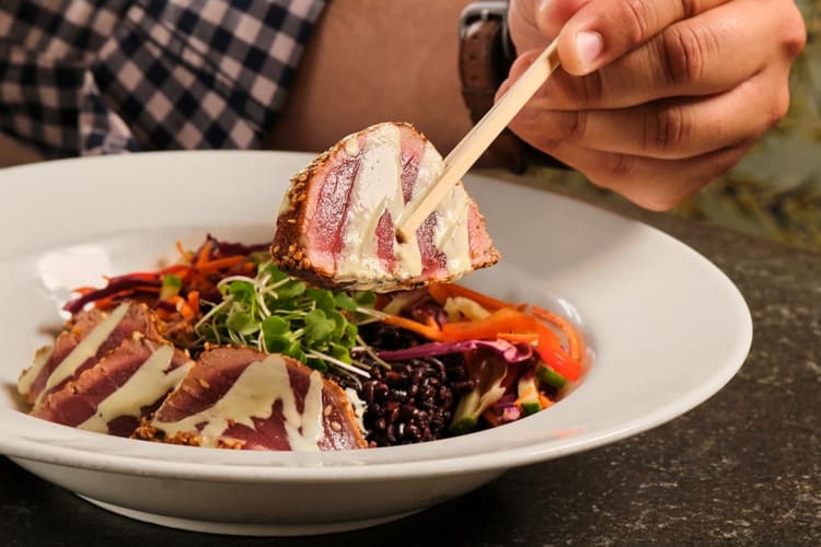
[[158, 348], [125, 384], [100, 403], [92, 417], [78, 427], [107, 433], [108, 422], [115, 418], [122, 416], [139, 418], [143, 406], [150, 405], [171, 389], [175, 389], [194, 365], [193, 361], [188, 361], [166, 373], [173, 357], [172, 346]]

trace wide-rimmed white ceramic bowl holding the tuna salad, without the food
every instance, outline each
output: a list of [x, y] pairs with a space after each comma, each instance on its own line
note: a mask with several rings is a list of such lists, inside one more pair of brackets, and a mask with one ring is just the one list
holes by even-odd
[[170, 446], [26, 416], [15, 393], [70, 290], [152, 267], [174, 242], [267, 241], [288, 178], [312, 156], [169, 152], [0, 171], [0, 453], [112, 511], [206, 532], [350, 529], [465, 493], [505, 470], [668, 421], [727, 383], [752, 323], [716, 267], [645, 224], [547, 193], [469, 177], [501, 261], [465, 279], [570, 315], [592, 366], [554, 407], [413, 446], [336, 453]]

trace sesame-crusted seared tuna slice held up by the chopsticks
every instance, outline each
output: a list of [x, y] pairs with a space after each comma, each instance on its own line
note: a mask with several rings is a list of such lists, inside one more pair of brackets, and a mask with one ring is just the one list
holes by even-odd
[[321, 287], [389, 292], [455, 280], [495, 264], [476, 202], [462, 183], [416, 232], [395, 229], [442, 172], [442, 158], [408, 124], [379, 124], [336, 143], [291, 181], [274, 261]]

